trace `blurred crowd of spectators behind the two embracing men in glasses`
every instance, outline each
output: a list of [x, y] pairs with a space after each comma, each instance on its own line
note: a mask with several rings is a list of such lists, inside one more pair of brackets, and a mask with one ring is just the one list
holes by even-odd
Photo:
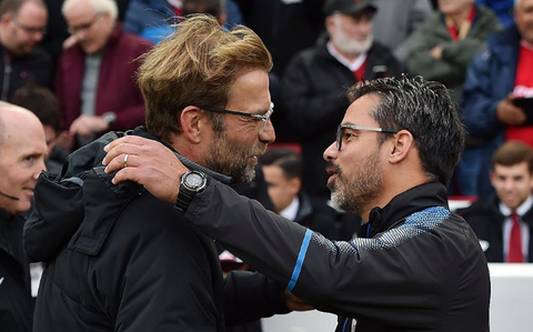
[[[450, 89], [467, 131], [447, 190], [477, 202], [459, 212], [487, 245], [489, 261], [533, 261], [533, 0], [1, 0], [1, 100], [33, 112], [47, 144], [36, 152], [43, 164], [20, 182], [44, 168], [60, 173], [72, 151], [108, 131], [143, 125], [139, 68], [181, 17], [194, 13], [213, 16], [223, 29], [251, 28], [274, 63], [275, 142], [239, 192], [328, 239], [350, 240], [361, 218], [331, 207], [323, 158], [351, 103], [346, 89], [363, 79], [421, 76]], [[17, 128], [6, 120], [10, 112], [0, 117], [0, 135]], [[31, 145], [34, 129], [18, 131]], [[4, 141], [0, 171], [9, 174], [17, 164], [4, 158]], [[0, 208], [27, 214], [24, 190], [18, 192], [26, 184], [13, 181], [0, 180]], [[9, 243], [0, 249], [18, 245]], [[242, 268], [238, 258], [222, 258]]]

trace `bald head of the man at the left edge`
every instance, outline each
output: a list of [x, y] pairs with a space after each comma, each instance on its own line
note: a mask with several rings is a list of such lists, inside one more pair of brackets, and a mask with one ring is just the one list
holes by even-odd
[[0, 209], [18, 214], [31, 208], [37, 178], [44, 167], [44, 129], [27, 109], [0, 102]]

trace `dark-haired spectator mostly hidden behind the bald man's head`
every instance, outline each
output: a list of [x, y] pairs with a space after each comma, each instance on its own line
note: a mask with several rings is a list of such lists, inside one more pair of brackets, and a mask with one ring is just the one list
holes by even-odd
[[59, 174], [69, 152], [62, 148], [61, 108], [56, 94], [44, 87], [27, 85], [14, 91], [11, 102], [32, 111], [41, 121], [48, 145], [44, 163], [50, 173]]

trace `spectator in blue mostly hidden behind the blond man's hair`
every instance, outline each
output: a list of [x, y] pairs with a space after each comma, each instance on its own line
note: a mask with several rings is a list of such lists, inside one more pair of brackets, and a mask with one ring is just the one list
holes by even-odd
[[[185, 10], [183, 0], [132, 0], [128, 7], [124, 19], [124, 30], [139, 34], [153, 43], [158, 43], [164, 37], [169, 36], [173, 28], [172, 23], [178, 23], [178, 17], [191, 12], [205, 12], [219, 18], [209, 8], [222, 6], [223, 24], [242, 24], [242, 13], [239, 6], [233, 0], [193, 0], [189, 1], [189, 8]], [[204, 8], [203, 10], [201, 8]], [[218, 11], [218, 10], [217, 10]], [[219, 19], [220, 21], [220, 19]]]

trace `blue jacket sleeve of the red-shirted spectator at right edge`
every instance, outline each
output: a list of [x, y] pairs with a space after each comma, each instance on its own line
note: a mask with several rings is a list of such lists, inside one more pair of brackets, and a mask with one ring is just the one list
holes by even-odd
[[496, 107], [501, 100], [491, 94], [494, 91], [491, 57], [490, 50], [481, 52], [466, 71], [461, 101], [462, 121], [472, 137], [492, 137], [504, 128], [496, 119]]

